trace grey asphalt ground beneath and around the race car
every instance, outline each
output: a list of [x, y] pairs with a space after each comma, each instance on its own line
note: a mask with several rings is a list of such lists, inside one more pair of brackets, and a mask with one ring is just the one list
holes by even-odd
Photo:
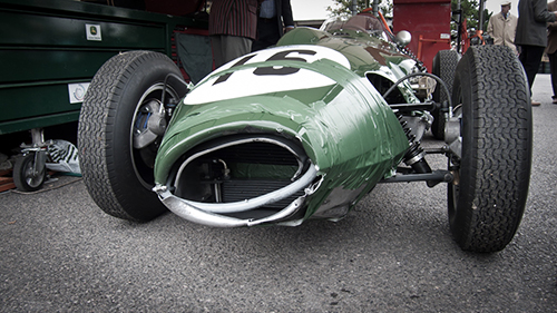
[[379, 185], [338, 223], [211, 228], [110, 217], [82, 180], [58, 176], [40, 193], [0, 194], [0, 311], [556, 312], [550, 96], [538, 75], [529, 198], [500, 253], [455, 244], [444, 185]]

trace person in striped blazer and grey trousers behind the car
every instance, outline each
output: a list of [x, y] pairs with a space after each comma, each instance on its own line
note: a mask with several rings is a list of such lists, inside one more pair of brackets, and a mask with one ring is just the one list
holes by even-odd
[[257, 3], [262, 0], [213, 0], [209, 36], [215, 66], [250, 53], [257, 31]]

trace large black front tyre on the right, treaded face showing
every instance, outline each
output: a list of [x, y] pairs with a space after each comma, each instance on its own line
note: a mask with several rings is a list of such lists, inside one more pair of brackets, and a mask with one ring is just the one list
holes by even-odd
[[530, 178], [531, 106], [522, 67], [507, 47], [470, 47], [458, 63], [452, 100], [462, 109], [462, 155], [451, 159], [451, 232], [465, 251], [500, 251], [520, 224]]

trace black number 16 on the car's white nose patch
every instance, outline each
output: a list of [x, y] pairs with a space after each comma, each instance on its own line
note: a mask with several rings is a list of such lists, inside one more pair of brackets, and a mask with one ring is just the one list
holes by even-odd
[[[289, 55], [295, 53], [295, 52], [297, 52], [299, 55], [306, 55], [306, 56], [314, 56], [315, 53], [317, 53], [317, 52], [312, 51], [312, 50], [285, 50], [285, 51], [280, 51], [280, 52], [273, 55], [272, 57], [270, 57], [268, 59], [266, 59], [266, 61], [293, 60], [293, 61], [307, 62], [307, 60], [303, 59], [303, 58], [289, 57]], [[245, 58], [242, 58], [240, 61], [237, 61], [236, 63], [234, 63], [232, 67], [243, 66], [243, 65], [245, 65], [247, 61], [250, 61], [256, 55], [252, 55], [252, 56], [247, 56]], [[256, 76], [291, 75], [291, 74], [295, 74], [297, 71], [300, 71], [300, 68], [294, 68], [294, 67], [262, 67], [262, 68], [256, 68], [253, 71], [253, 74], [256, 75]], [[218, 79], [213, 84], [213, 86], [226, 81], [232, 75], [233, 75], [233, 72], [228, 72], [228, 74], [225, 74], [225, 75], [218, 77]]]

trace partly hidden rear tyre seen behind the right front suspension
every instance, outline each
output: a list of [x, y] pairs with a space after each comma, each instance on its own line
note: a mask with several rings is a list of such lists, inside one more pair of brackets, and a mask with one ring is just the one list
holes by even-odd
[[[433, 68], [431, 72], [447, 85], [447, 88], [452, 90], [452, 82], [455, 81], [455, 71], [457, 70], [457, 63], [460, 56], [453, 50], [440, 50], [433, 58]], [[433, 101], [443, 102], [449, 99], [450, 95], [443, 90], [441, 85], [438, 82], [436, 91], [433, 92]], [[450, 109], [450, 108], [449, 108]], [[444, 138], [444, 115], [441, 110], [436, 109], [431, 111], [433, 115], [433, 124], [431, 125], [431, 134], [437, 139]]]

